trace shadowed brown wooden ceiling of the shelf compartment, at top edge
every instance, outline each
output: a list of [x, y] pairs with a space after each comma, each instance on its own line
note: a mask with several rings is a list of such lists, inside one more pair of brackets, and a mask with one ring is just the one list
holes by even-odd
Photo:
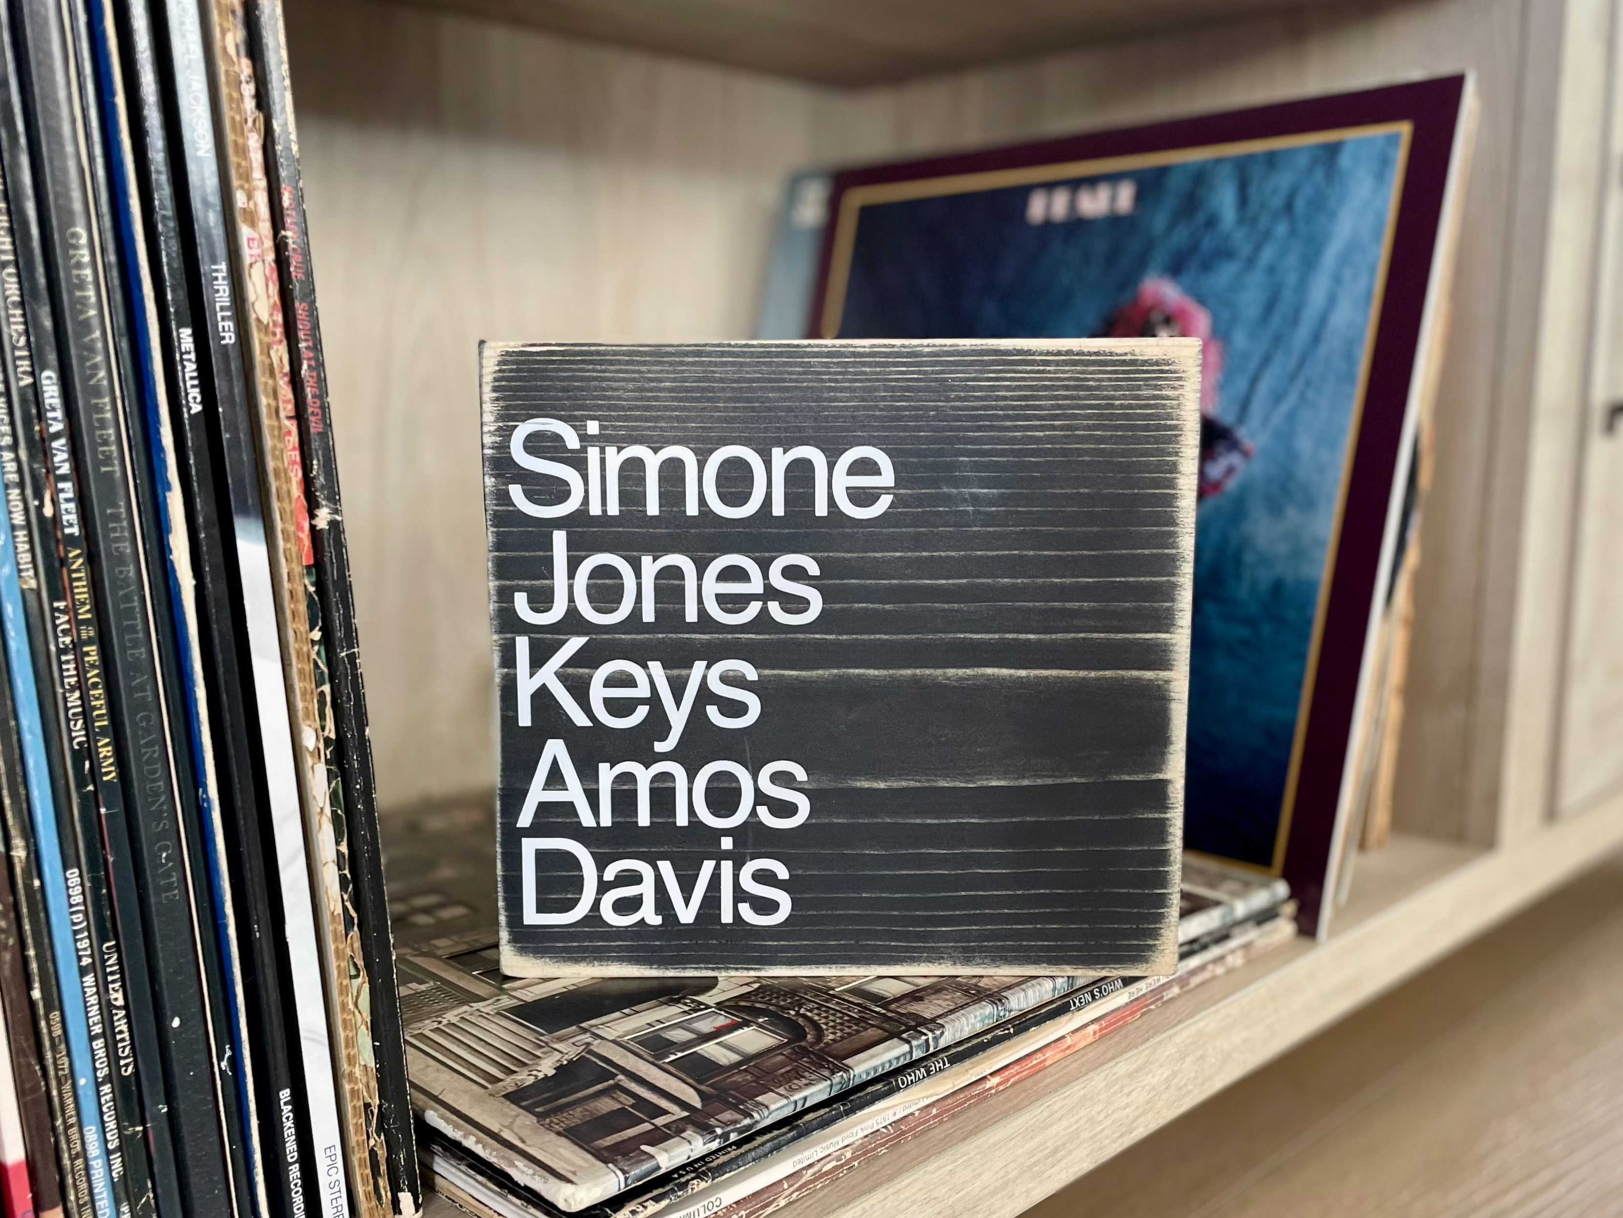
[[394, 0], [820, 84], [888, 84], [1347, 0]]

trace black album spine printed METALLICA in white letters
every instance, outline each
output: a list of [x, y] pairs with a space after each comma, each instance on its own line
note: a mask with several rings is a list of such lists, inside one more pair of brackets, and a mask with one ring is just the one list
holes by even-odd
[[208, 429], [211, 411], [204, 409], [206, 401], [217, 400], [217, 380], [211, 375], [216, 369], [208, 336], [195, 330], [195, 317], [206, 313], [206, 305], [192, 296], [201, 279], [195, 261], [188, 266], [195, 248], [183, 237], [175, 195], [175, 182], [185, 182], [185, 158], [170, 148], [169, 133], [179, 125], [172, 127], [166, 115], [159, 71], [161, 60], [174, 60], [166, 39], [154, 31], [146, 0], [120, 5], [120, 21], [130, 65], [135, 161], [141, 172], [136, 193], [144, 201], [151, 235], [156, 330], [169, 382], [169, 412], [151, 416], [149, 440], [157, 458], [154, 474], [167, 486], [159, 502], [170, 503], [167, 529], [177, 539], [170, 546], [172, 596], [180, 607], [177, 635], [188, 641], [185, 656], [192, 680], [185, 689], [192, 692], [188, 716], [208, 815], [204, 841], [213, 846], [216, 901], [229, 905], [232, 913], [222, 947], [230, 965], [227, 992], [235, 1031], [243, 1046], [242, 1114], [248, 1122], [243, 1142], [256, 1168], [253, 1186], [260, 1208], [291, 1216], [304, 1205], [308, 1132], [287, 1044], [282, 983], [287, 970], [276, 934], [281, 919], [260, 838], [263, 776], [256, 773], [250, 744], [253, 708], [252, 702], [226, 695], [242, 689], [239, 656], [243, 643], [226, 551], [227, 529], [219, 513]]

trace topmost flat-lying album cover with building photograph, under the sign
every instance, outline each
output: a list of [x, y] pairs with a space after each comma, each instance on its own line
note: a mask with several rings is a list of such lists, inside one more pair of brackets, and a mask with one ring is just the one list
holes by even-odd
[[[414, 1106], [503, 1187], [563, 1210], [675, 1203], [669, 1174], [977, 1034], [1035, 1034], [1162, 983], [1089, 976], [511, 978], [497, 948], [492, 806], [383, 818]], [[1185, 866], [1178, 976], [1287, 900], [1281, 880]], [[1255, 934], [1250, 927], [1246, 934]], [[1242, 939], [1235, 939], [1235, 945]], [[1248, 942], [1248, 940], [1245, 940]], [[1177, 983], [1165, 983], [1177, 989]], [[1097, 999], [1094, 997], [1097, 994]], [[1047, 1005], [1045, 1005], [1047, 1004]], [[1031, 1025], [1026, 1028], [1024, 1025]], [[1055, 1033], [1058, 1034], [1058, 1033]], [[906, 1085], [907, 1080], [904, 1080]], [[659, 1189], [651, 1184], [659, 1179]], [[622, 1195], [623, 1194], [623, 1195]], [[695, 1194], [696, 1195], [696, 1194]], [[683, 1202], [687, 1203], [687, 1202]], [[599, 1208], [592, 1208], [601, 1218]]]

